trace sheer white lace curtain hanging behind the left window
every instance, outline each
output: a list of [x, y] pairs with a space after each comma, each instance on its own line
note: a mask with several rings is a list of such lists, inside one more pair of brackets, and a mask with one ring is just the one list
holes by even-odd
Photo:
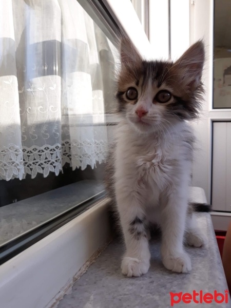
[[0, 179], [101, 163], [110, 41], [76, 0], [1, 1], [0, 15]]

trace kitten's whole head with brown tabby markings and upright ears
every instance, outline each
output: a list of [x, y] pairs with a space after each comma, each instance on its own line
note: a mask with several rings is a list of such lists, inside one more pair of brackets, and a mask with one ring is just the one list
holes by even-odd
[[131, 42], [123, 38], [117, 91], [119, 112], [143, 133], [197, 118], [203, 94], [203, 63], [201, 41], [172, 63], [142, 60]]

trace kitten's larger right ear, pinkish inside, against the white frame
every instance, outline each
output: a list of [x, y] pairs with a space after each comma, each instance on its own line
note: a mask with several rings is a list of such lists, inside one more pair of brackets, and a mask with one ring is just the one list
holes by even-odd
[[186, 87], [197, 88], [201, 83], [205, 51], [203, 41], [190, 46], [175, 62], [175, 69]]

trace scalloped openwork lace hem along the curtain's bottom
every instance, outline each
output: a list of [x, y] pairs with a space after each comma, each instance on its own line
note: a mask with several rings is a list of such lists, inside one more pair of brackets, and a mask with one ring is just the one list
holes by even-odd
[[84, 170], [88, 165], [93, 169], [97, 162], [100, 164], [106, 159], [107, 143], [100, 141], [79, 142], [64, 140], [61, 144], [20, 147], [10, 144], [0, 147], [0, 179], [25, 179], [30, 175], [34, 179], [37, 174], [48, 177], [50, 172], [56, 176], [63, 172], [65, 163], [70, 164], [73, 170]]

